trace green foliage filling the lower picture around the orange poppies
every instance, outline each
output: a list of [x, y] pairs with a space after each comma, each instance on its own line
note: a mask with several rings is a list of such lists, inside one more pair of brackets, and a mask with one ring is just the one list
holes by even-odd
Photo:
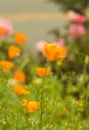
[[[14, 68], [4, 72], [5, 66], [0, 67], [0, 130], [89, 130], [89, 34], [63, 37], [68, 55], [64, 61], [49, 63], [52, 72], [44, 78], [36, 72], [38, 66], [47, 64], [42, 53], [36, 63], [23, 55], [10, 59], [7, 49], [16, 43], [7, 37], [1, 39], [0, 60], [12, 61]], [[26, 72], [25, 83], [13, 84], [15, 70]], [[16, 93], [14, 85], [18, 84], [30, 93]], [[30, 112], [23, 99], [38, 101], [40, 107]]]

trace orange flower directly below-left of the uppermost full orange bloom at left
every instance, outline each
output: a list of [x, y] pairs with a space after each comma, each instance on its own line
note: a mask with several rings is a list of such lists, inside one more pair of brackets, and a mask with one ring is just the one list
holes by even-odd
[[19, 56], [21, 53], [21, 50], [16, 46], [9, 46], [8, 48], [8, 56], [9, 58], [15, 58], [16, 56]]

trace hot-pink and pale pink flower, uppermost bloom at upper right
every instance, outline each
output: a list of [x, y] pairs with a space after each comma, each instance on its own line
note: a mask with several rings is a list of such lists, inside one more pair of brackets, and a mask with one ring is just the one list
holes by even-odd
[[68, 17], [71, 22], [84, 23], [86, 20], [83, 15], [75, 13], [74, 11], [69, 11]]

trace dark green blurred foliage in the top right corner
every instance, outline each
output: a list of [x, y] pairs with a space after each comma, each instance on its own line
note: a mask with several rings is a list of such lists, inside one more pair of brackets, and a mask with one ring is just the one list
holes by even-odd
[[89, 6], [89, 0], [49, 0], [54, 2], [63, 11], [74, 10], [78, 13], [85, 13], [85, 10]]

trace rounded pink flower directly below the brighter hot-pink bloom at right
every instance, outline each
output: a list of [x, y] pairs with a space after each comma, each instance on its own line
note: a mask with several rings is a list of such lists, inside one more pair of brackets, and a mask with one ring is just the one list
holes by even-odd
[[83, 24], [71, 24], [69, 26], [69, 37], [77, 38], [86, 34], [86, 29]]

